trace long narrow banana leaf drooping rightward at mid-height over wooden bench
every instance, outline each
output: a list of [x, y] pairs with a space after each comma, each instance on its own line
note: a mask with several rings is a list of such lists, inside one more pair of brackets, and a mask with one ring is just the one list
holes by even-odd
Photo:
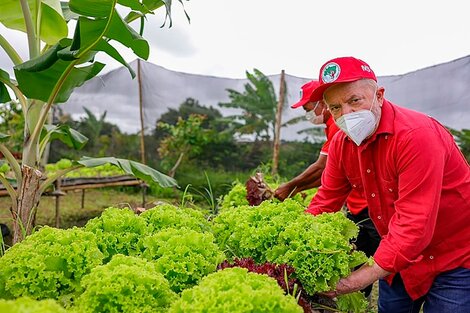
[[106, 163], [111, 163], [121, 168], [127, 174], [140, 178], [145, 182], [149, 182], [149, 183], [155, 182], [155, 183], [158, 183], [162, 187], [178, 186], [178, 183], [173, 178], [163, 173], [160, 173], [159, 171], [145, 164], [131, 161], [131, 160], [118, 159], [114, 157], [106, 157], [106, 158], [83, 157], [77, 162], [85, 167], [95, 167], [95, 166], [103, 165]]

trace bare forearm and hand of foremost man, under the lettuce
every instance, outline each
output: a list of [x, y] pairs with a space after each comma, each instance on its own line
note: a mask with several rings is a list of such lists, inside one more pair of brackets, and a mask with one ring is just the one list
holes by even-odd
[[338, 284], [336, 284], [336, 290], [328, 291], [323, 294], [333, 298], [338, 295], [358, 291], [369, 286], [379, 278], [385, 277], [389, 274], [390, 272], [382, 269], [377, 264], [373, 264], [372, 266], [364, 264], [357, 271], [352, 272], [348, 277], [340, 279]]

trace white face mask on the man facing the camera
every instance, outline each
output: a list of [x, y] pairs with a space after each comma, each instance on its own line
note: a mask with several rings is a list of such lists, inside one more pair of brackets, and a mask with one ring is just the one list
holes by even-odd
[[370, 110], [348, 113], [335, 120], [336, 125], [358, 146], [374, 132], [377, 126], [377, 117], [372, 113], [375, 100], [374, 95]]

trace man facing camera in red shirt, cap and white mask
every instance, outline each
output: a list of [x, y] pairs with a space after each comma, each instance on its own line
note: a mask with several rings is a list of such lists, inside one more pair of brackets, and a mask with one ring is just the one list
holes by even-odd
[[[470, 167], [433, 118], [384, 98], [365, 62], [336, 58], [320, 69], [311, 101], [324, 100], [342, 130], [307, 212], [338, 211], [355, 190], [382, 237], [374, 264], [329, 294], [380, 279], [379, 312], [470, 312]], [[445, 105], [445, 104], [443, 104]]]

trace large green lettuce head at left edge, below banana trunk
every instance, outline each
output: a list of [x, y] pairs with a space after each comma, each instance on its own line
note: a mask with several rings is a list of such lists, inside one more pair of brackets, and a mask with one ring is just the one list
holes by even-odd
[[102, 261], [93, 233], [43, 227], [0, 258], [0, 298], [67, 297]]

